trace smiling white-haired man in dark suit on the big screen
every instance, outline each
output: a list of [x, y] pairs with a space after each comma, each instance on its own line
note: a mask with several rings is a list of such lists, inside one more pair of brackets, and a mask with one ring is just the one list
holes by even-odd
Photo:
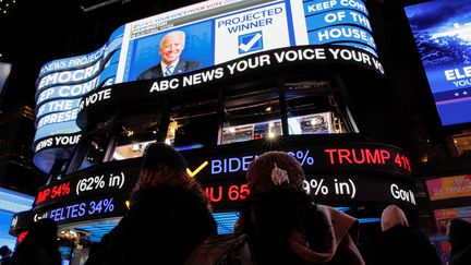
[[173, 31], [165, 35], [159, 44], [160, 63], [142, 72], [137, 80], [158, 79], [198, 69], [200, 62], [185, 61], [180, 58], [184, 46], [184, 32]]

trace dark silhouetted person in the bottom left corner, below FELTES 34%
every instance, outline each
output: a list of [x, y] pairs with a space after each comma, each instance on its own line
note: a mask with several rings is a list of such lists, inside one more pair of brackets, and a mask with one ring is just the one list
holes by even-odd
[[43, 218], [32, 225], [24, 240], [17, 244], [10, 265], [60, 265], [61, 254], [55, 220]]

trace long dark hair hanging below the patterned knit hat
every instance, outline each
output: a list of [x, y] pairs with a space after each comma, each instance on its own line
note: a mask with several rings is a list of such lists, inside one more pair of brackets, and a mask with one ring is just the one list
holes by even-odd
[[[289, 238], [294, 232], [306, 237], [310, 248], [328, 249], [333, 234], [329, 225], [312, 198], [302, 191], [276, 190], [253, 192], [241, 207], [242, 227], [262, 253], [277, 253], [286, 261], [297, 260], [289, 251]], [[263, 258], [263, 257], [262, 257]]]

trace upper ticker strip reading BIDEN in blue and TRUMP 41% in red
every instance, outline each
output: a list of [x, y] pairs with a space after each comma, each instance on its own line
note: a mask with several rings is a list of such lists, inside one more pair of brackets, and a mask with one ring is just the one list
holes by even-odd
[[[282, 142], [282, 140], [280, 141]], [[292, 141], [294, 142], [294, 141]], [[251, 145], [251, 143], [244, 143]], [[224, 146], [218, 146], [224, 148]], [[399, 148], [373, 144], [373, 143], [349, 143], [345, 145], [312, 145], [305, 143], [292, 143], [291, 145], [277, 146], [294, 158], [303, 166], [306, 172], [397, 172], [409, 177], [411, 167], [409, 158]], [[190, 169], [200, 169], [196, 178], [198, 180], [213, 181], [228, 178], [231, 174], [244, 174], [249, 165], [264, 153], [266, 147], [247, 147], [256, 149], [256, 153], [244, 152], [241, 155], [232, 156], [212, 156], [201, 154], [194, 156], [192, 153], [200, 154], [198, 149], [189, 150]], [[227, 154], [227, 153], [221, 153]], [[193, 159], [193, 157], [195, 157]], [[197, 158], [196, 158], [197, 157]], [[207, 166], [202, 167], [205, 164]]]

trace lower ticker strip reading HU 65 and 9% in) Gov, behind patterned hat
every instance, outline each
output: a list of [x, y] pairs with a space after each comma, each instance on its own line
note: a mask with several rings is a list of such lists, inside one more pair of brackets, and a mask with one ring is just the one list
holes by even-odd
[[[242, 174], [231, 181], [203, 182], [215, 209], [237, 208], [240, 201], [246, 198], [250, 190]], [[369, 202], [416, 206], [413, 181], [390, 176], [306, 174], [303, 189], [315, 202], [323, 204]]]

